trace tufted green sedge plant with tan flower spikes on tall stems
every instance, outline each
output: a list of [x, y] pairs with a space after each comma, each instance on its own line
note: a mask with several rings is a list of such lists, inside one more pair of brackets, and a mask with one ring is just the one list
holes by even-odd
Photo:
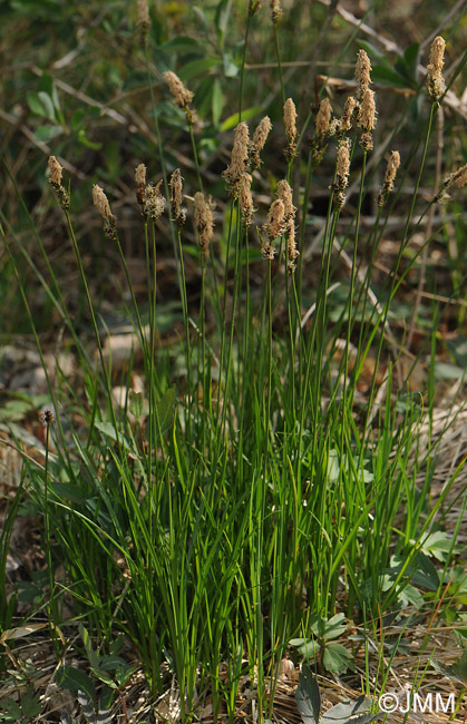
[[[86, 619], [87, 629], [104, 637], [104, 647], [117, 632], [126, 634], [155, 698], [168, 688], [169, 675], [175, 678], [182, 721], [202, 711], [206, 693], [215, 716], [225, 706], [233, 721], [244, 677], [256, 691], [259, 721], [271, 716], [278, 665], [289, 642], [298, 635], [307, 637], [313, 616], [328, 619], [343, 610], [349, 617], [376, 619], [396, 606], [410, 585], [424, 536], [442, 502], [427, 513], [411, 498], [410, 451], [422, 409], [416, 403], [402, 405], [406, 389], [397, 389], [395, 381], [398, 358], [389, 325], [432, 116], [442, 99], [442, 63], [435, 56], [430, 61], [432, 106], [417, 139], [422, 143], [421, 163], [406, 209], [403, 238], [388, 286], [377, 300], [373, 263], [403, 159], [397, 150], [390, 154], [377, 223], [367, 238], [361, 217], [378, 104], [370, 87], [370, 59], [364, 50], [358, 52], [357, 94], [349, 97], [341, 117], [332, 117], [328, 99], [320, 102], [309, 149], [304, 148], [280, 58], [280, 3], [271, 3], [283, 127], [263, 116], [251, 136], [242, 94], [246, 41], [259, 4], [250, 2], [247, 9], [239, 123], [222, 175], [227, 205], [224, 258], [215, 248], [220, 215], [203, 177], [194, 94], [175, 72], [164, 71], [173, 100], [186, 118], [195, 168], [189, 194], [185, 169], [169, 168], [162, 144], [164, 124], [153, 94], [162, 180], [148, 183], [139, 162], [134, 205], [145, 239], [147, 325], [118, 219], [105, 190], [94, 186], [104, 233], [124, 271], [127, 314], [144, 358], [138, 370], [144, 390], [132, 394], [136, 362], [130, 358], [123, 405], [113, 394], [115, 379], [104, 354], [91, 280], [70, 214], [72, 187], [64, 186], [57, 159], [49, 163], [94, 334], [86, 348], [79, 334], [71, 333], [79, 350], [84, 394], [64, 381], [56, 399], [49, 381], [56, 395], [53, 409], [57, 415], [62, 411], [67, 425], [59, 427], [56, 458], [47, 460], [53, 482], [46, 479], [45, 500], [42, 478], [28, 463], [31, 495], [46, 520], [53, 626], [60, 628], [57, 598], [61, 595], [72, 616]], [[146, 12], [142, 18], [150, 75], [150, 19]], [[266, 140], [274, 131], [286, 168], [270, 194], [267, 209], [260, 213], [259, 184], [267, 167]], [[332, 154], [333, 172], [327, 179], [319, 260], [310, 275], [309, 200], [312, 179], [327, 154], [329, 158]], [[451, 185], [464, 177], [454, 175]], [[353, 217], [343, 237], [340, 224], [351, 183], [357, 188]], [[183, 321], [179, 376], [174, 374], [175, 355], [160, 344], [158, 330], [156, 270], [163, 222], [169, 225], [176, 256]], [[187, 237], [196, 239], [197, 310], [189, 305]], [[346, 247], [351, 247], [350, 255]], [[362, 248], [369, 260], [364, 271]], [[344, 254], [349, 266], [342, 267]], [[402, 277], [416, 261], [417, 254]], [[35, 268], [32, 260], [28, 263]], [[47, 273], [49, 278], [41, 275], [39, 281], [72, 330], [51, 263]], [[314, 280], [312, 290], [305, 288], [309, 278]], [[340, 307], [334, 303], [335, 290], [344, 292]], [[311, 299], [307, 311], [303, 302]], [[360, 403], [359, 388], [372, 351], [366, 402]], [[75, 422], [77, 408], [84, 420], [80, 425]], [[398, 567], [395, 555], [402, 560]], [[388, 570], [392, 571], [389, 586]]]

